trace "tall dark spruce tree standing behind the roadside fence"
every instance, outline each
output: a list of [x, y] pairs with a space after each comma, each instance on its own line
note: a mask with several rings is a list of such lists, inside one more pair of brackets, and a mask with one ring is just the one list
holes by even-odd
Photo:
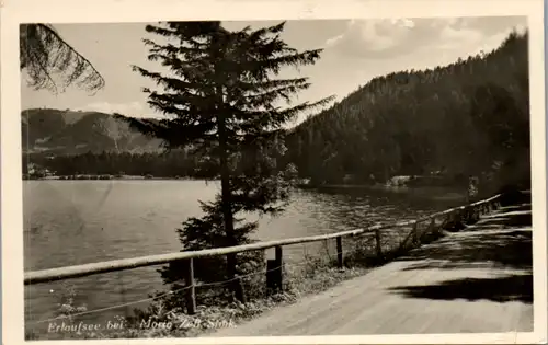
[[[178, 230], [183, 251], [249, 243], [258, 223], [247, 221], [246, 214], [275, 215], [288, 199], [296, 172], [279, 163], [285, 151], [283, 126], [330, 99], [292, 103], [292, 96], [310, 83], [307, 78], [279, 78], [279, 71], [315, 64], [321, 49], [289, 47], [279, 38], [284, 25], [235, 32], [220, 22], [167, 22], [146, 27], [162, 36], [161, 43], [144, 39], [148, 58], [168, 67], [170, 73], [134, 69], [160, 87], [160, 91], [144, 92], [148, 104], [165, 116], [159, 122], [130, 123], [162, 139], [168, 150], [191, 147], [209, 160], [208, 166], [220, 180], [215, 200], [201, 202], [205, 215], [187, 219]], [[196, 278], [231, 279], [231, 296], [244, 300], [240, 279], [235, 277], [258, 269], [263, 256], [255, 254], [197, 260]], [[178, 264], [161, 269], [164, 280], [175, 287], [181, 273]]]

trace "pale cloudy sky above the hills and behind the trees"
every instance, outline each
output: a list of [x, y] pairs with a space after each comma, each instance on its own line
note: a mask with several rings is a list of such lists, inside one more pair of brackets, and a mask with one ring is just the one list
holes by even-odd
[[[278, 22], [224, 22], [228, 30], [252, 28]], [[151, 82], [134, 72], [136, 65], [160, 71], [158, 62], [147, 60], [142, 38], [147, 23], [59, 24], [58, 33], [103, 74], [105, 88], [90, 93], [70, 87], [54, 94], [26, 85], [23, 71], [22, 110], [59, 110], [121, 113], [135, 117], [158, 117], [147, 104], [144, 87]], [[336, 101], [370, 79], [401, 70], [421, 70], [448, 65], [483, 50], [496, 48], [513, 28], [526, 27], [524, 16], [437, 18], [385, 20], [289, 21], [282, 38], [292, 47], [322, 48], [321, 59], [300, 70], [287, 69], [283, 77], [308, 77], [311, 88], [296, 100], [317, 101], [334, 95]], [[304, 119], [304, 114], [296, 123]]]

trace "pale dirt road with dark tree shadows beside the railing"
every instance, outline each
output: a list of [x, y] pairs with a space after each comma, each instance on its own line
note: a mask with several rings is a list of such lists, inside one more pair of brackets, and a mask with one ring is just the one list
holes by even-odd
[[530, 206], [208, 336], [533, 331]]

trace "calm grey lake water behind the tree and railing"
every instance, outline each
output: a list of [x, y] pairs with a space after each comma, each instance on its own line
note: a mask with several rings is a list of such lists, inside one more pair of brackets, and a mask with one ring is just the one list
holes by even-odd
[[[196, 181], [25, 181], [24, 268], [45, 269], [115, 258], [162, 254], [180, 250], [175, 229], [199, 216], [197, 200], [209, 200], [218, 183]], [[367, 189], [295, 192], [287, 211], [260, 219], [254, 234], [261, 240], [285, 239], [362, 228], [376, 222], [414, 218], [461, 203], [456, 193], [430, 189], [387, 193]], [[307, 254], [321, 244], [307, 244]], [[287, 262], [300, 262], [302, 245], [284, 251]], [[272, 253], [270, 253], [272, 255]], [[126, 272], [25, 287], [28, 326], [47, 330], [67, 288], [77, 291], [76, 304], [88, 310], [146, 299], [163, 290], [156, 272], [145, 267]], [[137, 303], [87, 315], [103, 322], [124, 315]]]

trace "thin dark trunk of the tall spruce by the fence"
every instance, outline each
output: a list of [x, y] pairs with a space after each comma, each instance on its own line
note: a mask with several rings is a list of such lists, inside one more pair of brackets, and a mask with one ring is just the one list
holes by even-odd
[[[218, 131], [219, 131], [219, 161], [220, 161], [220, 188], [222, 200], [222, 219], [225, 222], [225, 233], [228, 239], [228, 245], [238, 245], [235, 237], [235, 223], [231, 207], [231, 187], [230, 187], [230, 170], [228, 166], [228, 151], [227, 151], [227, 134], [225, 118], [221, 115], [217, 116]], [[227, 273], [231, 283], [232, 292], [239, 301], [246, 302], [243, 288], [240, 279], [237, 277], [237, 254], [227, 255]]]

